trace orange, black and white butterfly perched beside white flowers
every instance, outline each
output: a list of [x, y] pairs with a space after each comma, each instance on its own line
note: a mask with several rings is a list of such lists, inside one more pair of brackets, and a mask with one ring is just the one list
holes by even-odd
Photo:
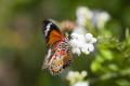
[[72, 62], [69, 40], [54, 20], [46, 19], [42, 25], [48, 48], [42, 69], [48, 69], [53, 75], [60, 74]]

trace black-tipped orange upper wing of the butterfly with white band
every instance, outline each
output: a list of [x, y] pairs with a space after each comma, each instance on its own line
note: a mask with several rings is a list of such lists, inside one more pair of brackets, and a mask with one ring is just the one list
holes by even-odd
[[60, 28], [50, 19], [43, 22], [43, 34], [49, 48], [64, 38]]

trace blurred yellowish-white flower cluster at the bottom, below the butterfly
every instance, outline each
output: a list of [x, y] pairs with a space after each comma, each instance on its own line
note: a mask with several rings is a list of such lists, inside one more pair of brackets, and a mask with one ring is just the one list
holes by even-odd
[[66, 76], [66, 80], [69, 81], [70, 86], [89, 86], [89, 83], [87, 81], [83, 81], [86, 76], [86, 71], [82, 71], [81, 73], [77, 71], [69, 71]]

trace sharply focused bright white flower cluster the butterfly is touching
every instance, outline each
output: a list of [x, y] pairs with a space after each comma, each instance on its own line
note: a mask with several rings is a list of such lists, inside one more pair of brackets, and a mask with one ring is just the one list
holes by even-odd
[[82, 53], [89, 54], [94, 51], [93, 43], [96, 42], [96, 39], [93, 38], [91, 33], [81, 34], [81, 33], [72, 33], [72, 40], [69, 44], [72, 45], [72, 52], [78, 56]]

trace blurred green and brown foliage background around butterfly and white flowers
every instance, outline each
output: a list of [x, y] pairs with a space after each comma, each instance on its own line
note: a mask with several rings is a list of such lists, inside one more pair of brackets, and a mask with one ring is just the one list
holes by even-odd
[[129, 0], [0, 0], [0, 86], [68, 86], [65, 76], [41, 70], [47, 54], [42, 20], [75, 22], [82, 5], [108, 12], [105, 29], [120, 42], [108, 40], [98, 53], [75, 56], [69, 70], [88, 71], [90, 86], [130, 86]]

